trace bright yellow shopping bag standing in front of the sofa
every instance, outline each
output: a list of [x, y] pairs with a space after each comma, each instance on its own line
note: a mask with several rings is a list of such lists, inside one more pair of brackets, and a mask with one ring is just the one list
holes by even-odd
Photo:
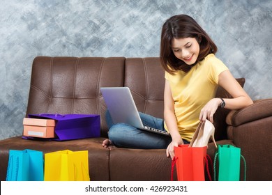
[[45, 181], [89, 181], [88, 150], [45, 153]]

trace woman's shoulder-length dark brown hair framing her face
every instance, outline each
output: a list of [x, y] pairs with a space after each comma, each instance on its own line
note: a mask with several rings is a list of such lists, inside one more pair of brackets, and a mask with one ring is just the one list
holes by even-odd
[[202, 61], [208, 54], [216, 54], [217, 52], [216, 44], [192, 17], [174, 15], [163, 24], [160, 40], [160, 63], [163, 69], [170, 74], [173, 74], [176, 70], [188, 72], [192, 68], [192, 65], [187, 65], [174, 55], [172, 51], [172, 40], [174, 38], [197, 39], [199, 42], [199, 56], [195, 64]]

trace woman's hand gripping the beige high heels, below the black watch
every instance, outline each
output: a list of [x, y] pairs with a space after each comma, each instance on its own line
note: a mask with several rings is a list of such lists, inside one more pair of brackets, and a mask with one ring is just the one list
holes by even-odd
[[204, 122], [206, 119], [213, 123], [213, 114], [216, 113], [218, 105], [222, 102], [220, 98], [213, 98], [202, 108], [199, 114], [199, 120]]

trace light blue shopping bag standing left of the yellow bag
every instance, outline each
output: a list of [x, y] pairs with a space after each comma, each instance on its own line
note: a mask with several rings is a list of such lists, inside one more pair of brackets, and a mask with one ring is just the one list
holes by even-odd
[[43, 181], [43, 152], [9, 150], [7, 181]]

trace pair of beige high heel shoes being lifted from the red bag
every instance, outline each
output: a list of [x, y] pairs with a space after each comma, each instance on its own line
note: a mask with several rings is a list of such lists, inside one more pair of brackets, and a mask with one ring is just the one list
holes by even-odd
[[213, 123], [209, 120], [206, 120], [204, 123], [199, 123], [197, 130], [195, 131], [192, 141], [190, 142], [189, 147], [204, 147], [208, 146], [210, 138], [213, 139], [213, 143], [217, 148], [216, 141], [214, 139], [215, 127]]

